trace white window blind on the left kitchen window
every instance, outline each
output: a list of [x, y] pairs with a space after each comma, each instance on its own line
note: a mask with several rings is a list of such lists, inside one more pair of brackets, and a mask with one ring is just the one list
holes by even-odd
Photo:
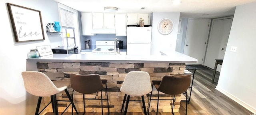
[[61, 18], [62, 28], [74, 29], [73, 12], [60, 8], [60, 18]]

